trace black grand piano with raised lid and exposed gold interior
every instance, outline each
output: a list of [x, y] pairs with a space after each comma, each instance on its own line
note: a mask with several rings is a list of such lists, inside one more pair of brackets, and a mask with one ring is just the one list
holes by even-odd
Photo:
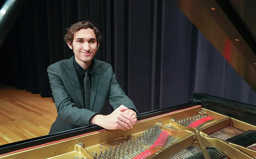
[[[250, 21], [255, 2], [176, 3], [255, 91], [256, 27]], [[63, 131], [2, 145], [0, 159], [253, 159], [255, 116], [256, 106], [194, 92], [189, 103], [140, 114], [131, 130]]]

